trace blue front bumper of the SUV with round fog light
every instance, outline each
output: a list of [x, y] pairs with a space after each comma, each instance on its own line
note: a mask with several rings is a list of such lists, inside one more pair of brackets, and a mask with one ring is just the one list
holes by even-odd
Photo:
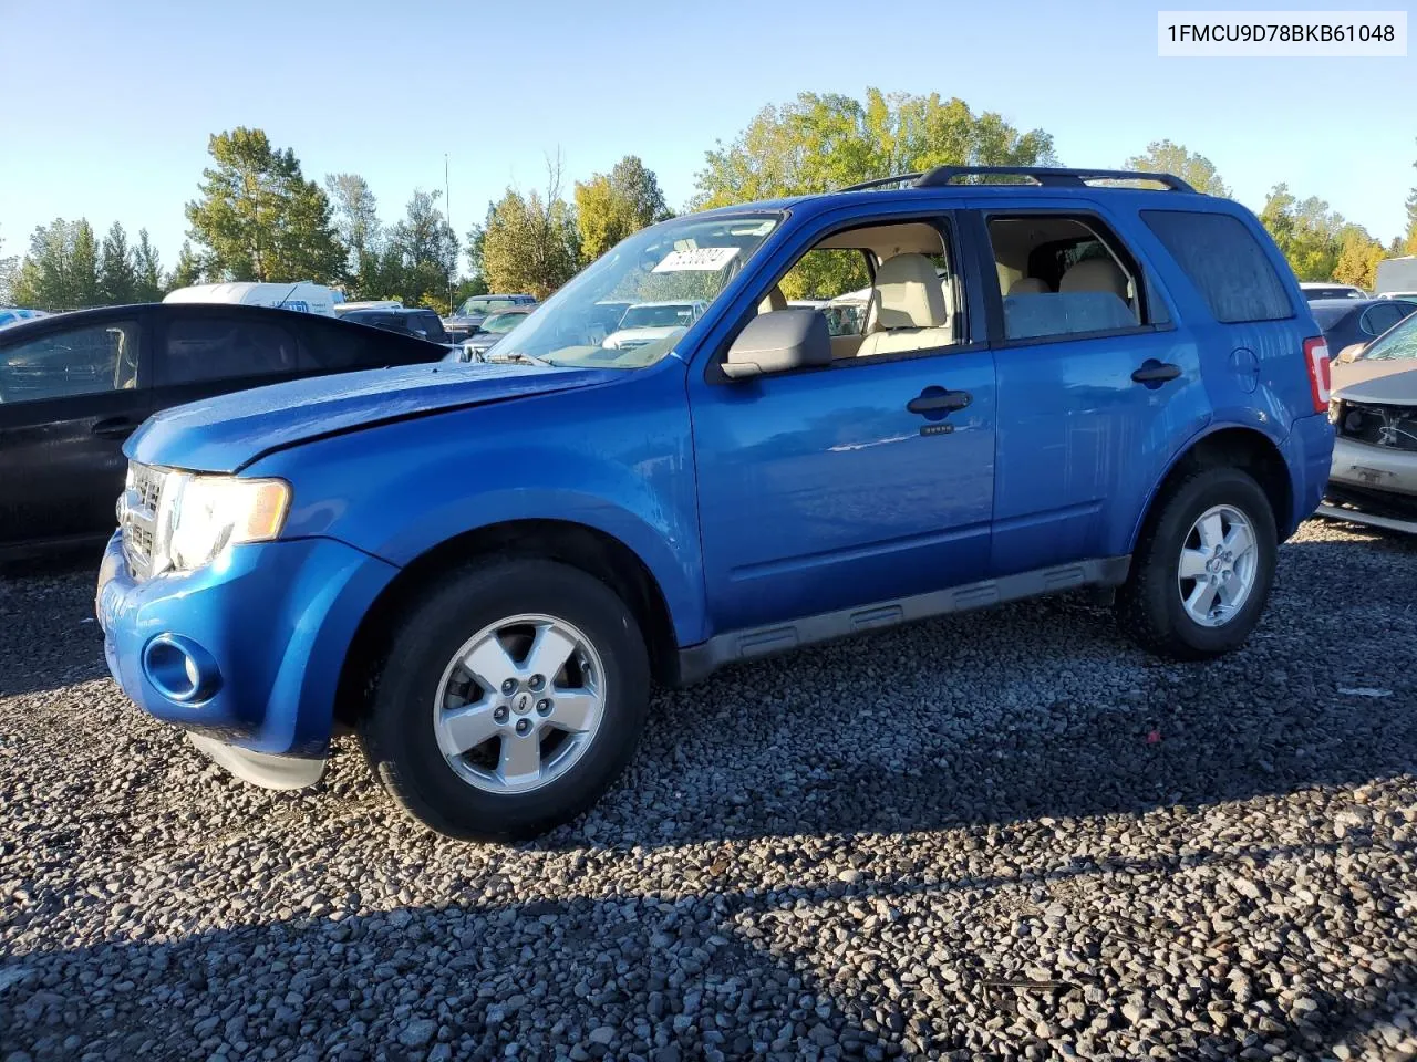
[[397, 571], [303, 538], [238, 545], [200, 571], [139, 582], [115, 534], [95, 600], [108, 668], [149, 715], [259, 753], [252, 762], [323, 759], [346, 653]]

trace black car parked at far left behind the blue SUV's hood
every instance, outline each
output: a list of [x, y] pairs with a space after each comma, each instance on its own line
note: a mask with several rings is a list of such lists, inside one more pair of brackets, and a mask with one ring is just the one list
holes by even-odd
[[0, 559], [106, 538], [128, 466], [123, 440], [159, 409], [446, 353], [259, 306], [111, 306], [0, 329]]

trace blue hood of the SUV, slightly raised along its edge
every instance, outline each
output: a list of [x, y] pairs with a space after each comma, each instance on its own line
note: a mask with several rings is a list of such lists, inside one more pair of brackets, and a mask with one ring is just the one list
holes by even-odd
[[164, 409], [123, 452], [145, 464], [238, 472], [262, 455], [393, 421], [604, 384], [615, 370], [436, 362], [312, 377]]

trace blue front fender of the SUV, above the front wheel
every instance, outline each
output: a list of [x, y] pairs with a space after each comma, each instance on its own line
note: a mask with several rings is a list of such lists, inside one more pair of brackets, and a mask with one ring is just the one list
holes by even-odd
[[626, 377], [315, 440], [249, 474], [292, 484], [285, 535], [327, 535], [400, 566], [514, 520], [594, 528], [643, 562], [679, 644], [693, 644], [707, 632], [683, 374]]

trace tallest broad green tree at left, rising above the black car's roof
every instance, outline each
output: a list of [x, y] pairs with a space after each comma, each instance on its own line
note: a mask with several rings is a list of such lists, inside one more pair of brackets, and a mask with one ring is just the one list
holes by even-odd
[[336, 280], [346, 251], [330, 201], [300, 173], [295, 152], [259, 129], [237, 127], [208, 142], [200, 198], [187, 204], [190, 236], [204, 269], [227, 280]]

